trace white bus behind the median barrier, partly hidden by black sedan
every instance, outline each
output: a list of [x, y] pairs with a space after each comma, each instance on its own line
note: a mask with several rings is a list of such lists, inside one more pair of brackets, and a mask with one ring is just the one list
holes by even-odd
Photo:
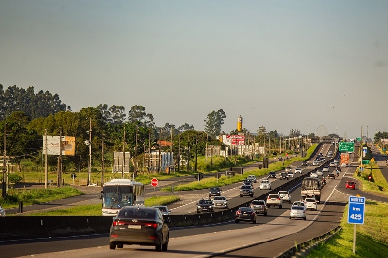
[[144, 185], [130, 179], [112, 179], [101, 191], [102, 215], [115, 216], [123, 206], [144, 205]]

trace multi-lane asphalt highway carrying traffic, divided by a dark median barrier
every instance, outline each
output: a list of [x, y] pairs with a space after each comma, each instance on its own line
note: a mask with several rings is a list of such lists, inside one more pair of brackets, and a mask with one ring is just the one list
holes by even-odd
[[[323, 145], [324, 154], [330, 149], [331, 145]], [[334, 157], [333, 157], [334, 158]], [[356, 157], [351, 154], [351, 159]], [[314, 169], [309, 162], [308, 167], [304, 167], [302, 173], [309, 173]], [[341, 188], [343, 191], [344, 182], [351, 177], [356, 169], [356, 165], [349, 168], [343, 168], [340, 177], [329, 179], [328, 184], [323, 188], [322, 201], [318, 205], [317, 211], [308, 211], [307, 220], [289, 220], [288, 212], [293, 201], [300, 199], [300, 186], [293, 186], [289, 189], [291, 192], [291, 204], [284, 203], [283, 208], [269, 208], [268, 216], [258, 215], [257, 224], [235, 223], [234, 220], [226, 223], [193, 226], [187, 228], [171, 228], [170, 243], [167, 252], [157, 253], [158, 257], [275, 257], [288, 250], [297, 242], [305, 242], [313, 237], [327, 233], [338, 226], [348, 195], [336, 190]], [[333, 168], [331, 168], [333, 170]], [[280, 173], [280, 172], [279, 172]], [[328, 172], [325, 172], [327, 175]], [[296, 174], [299, 176], [300, 174]], [[259, 190], [258, 183], [254, 184], [255, 196], [266, 193], [266, 190]], [[273, 180], [273, 188], [287, 181]], [[238, 206], [253, 198], [236, 197], [238, 188], [241, 185], [234, 184], [222, 188], [223, 194], [229, 199], [229, 207]], [[354, 190], [349, 194], [356, 194]], [[351, 192], [353, 191], [353, 192]], [[268, 192], [268, 191], [267, 191]], [[207, 190], [197, 190], [187, 195], [207, 197]], [[196, 202], [187, 201], [184, 204], [175, 204], [169, 206], [173, 209], [173, 214], [187, 214], [196, 212]], [[222, 209], [216, 209], [216, 211]], [[123, 249], [109, 249], [108, 234], [23, 240], [13, 242], [0, 242], [2, 257], [149, 257], [155, 255], [153, 247], [129, 246], [124, 245]]]

